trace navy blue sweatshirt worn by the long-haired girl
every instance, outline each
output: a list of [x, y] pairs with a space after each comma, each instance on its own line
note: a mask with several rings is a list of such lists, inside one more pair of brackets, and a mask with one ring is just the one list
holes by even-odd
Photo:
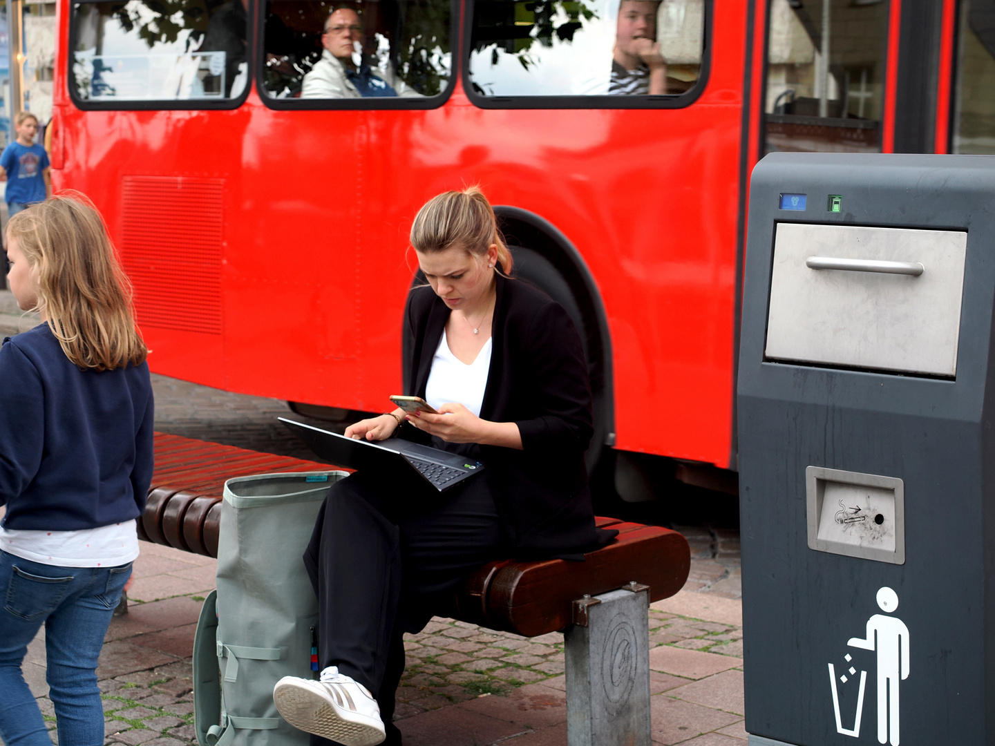
[[148, 365], [70, 362], [47, 323], [0, 347], [0, 504], [9, 529], [137, 518], [152, 480]]

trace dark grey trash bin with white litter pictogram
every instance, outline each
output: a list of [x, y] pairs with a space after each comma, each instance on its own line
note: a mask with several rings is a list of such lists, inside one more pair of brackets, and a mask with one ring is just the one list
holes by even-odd
[[753, 746], [995, 744], [995, 158], [754, 169], [738, 371]]

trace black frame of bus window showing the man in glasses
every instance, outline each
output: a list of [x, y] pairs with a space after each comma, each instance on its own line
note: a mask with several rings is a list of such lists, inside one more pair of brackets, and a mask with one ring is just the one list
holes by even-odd
[[[450, 2], [450, 25], [449, 25], [449, 35], [450, 35], [450, 59], [452, 75], [450, 75], [449, 83], [446, 84], [446, 88], [443, 89], [437, 95], [424, 96], [424, 97], [407, 97], [407, 96], [374, 96], [374, 97], [359, 97], [359, 98], [276, 98], [270, 93], [267, 93], [263, 86], [262, 81], [266, 80], [265, 77], [265, 66], [266, 66], [266, 50], [262, 50], [262, 54], [256, 55], [256, 68], [255, 68], [255, 80], [256, 80], [256, 90], [259, 93], [260, 100], [268, 108], [276, 110], [303, 110], [303, 111], [327, 111], [327, 110], [394, 110], [394, 109], [432, 109], [439, 108], [449, 97], [453, 94], [456, 89], [456, 80], [459, 77], [457, 75], [457, 65], [460, 60], [460, 12], [462, 3], [460, 0], [449, 0]], [[256, 42], [254, 51], [259, 51], [264, 44], [266, 44], [266, 3], [267, 0], [259, 0], [256, 3], [256, 28], [259, 29], [259, 39]]]

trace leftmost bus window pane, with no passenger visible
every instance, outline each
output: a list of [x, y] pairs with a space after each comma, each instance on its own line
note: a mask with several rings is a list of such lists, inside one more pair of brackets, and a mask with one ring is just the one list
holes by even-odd
[[246, 1], [75, 3], [77, 98], [237, 98], [248, 83]]

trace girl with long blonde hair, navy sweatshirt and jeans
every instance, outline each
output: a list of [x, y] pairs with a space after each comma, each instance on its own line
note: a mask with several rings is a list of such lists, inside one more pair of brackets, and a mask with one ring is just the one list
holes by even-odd
[[147, 351], [85, 197], [12, 217], [7, 256], [18, 306], [42, 323], [0, 347], [0, 740], [51, 746], [21, 670], [44, 624], [59, 742], [98, 746], [97, 662], [152, 476]]

